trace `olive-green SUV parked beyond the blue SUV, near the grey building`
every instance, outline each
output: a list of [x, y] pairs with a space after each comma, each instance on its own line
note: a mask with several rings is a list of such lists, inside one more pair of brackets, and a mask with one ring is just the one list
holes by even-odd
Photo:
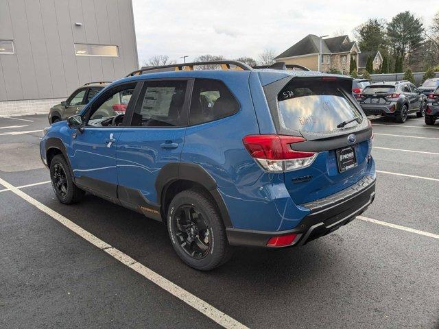
[[56, 104], [50, 109], [49, 123], [63, 121], [72, 115], [78, 114], [86, 103], [110, 83], [110, 81], [88, 82], [88, 84], [76, 89], [67, 100]]

